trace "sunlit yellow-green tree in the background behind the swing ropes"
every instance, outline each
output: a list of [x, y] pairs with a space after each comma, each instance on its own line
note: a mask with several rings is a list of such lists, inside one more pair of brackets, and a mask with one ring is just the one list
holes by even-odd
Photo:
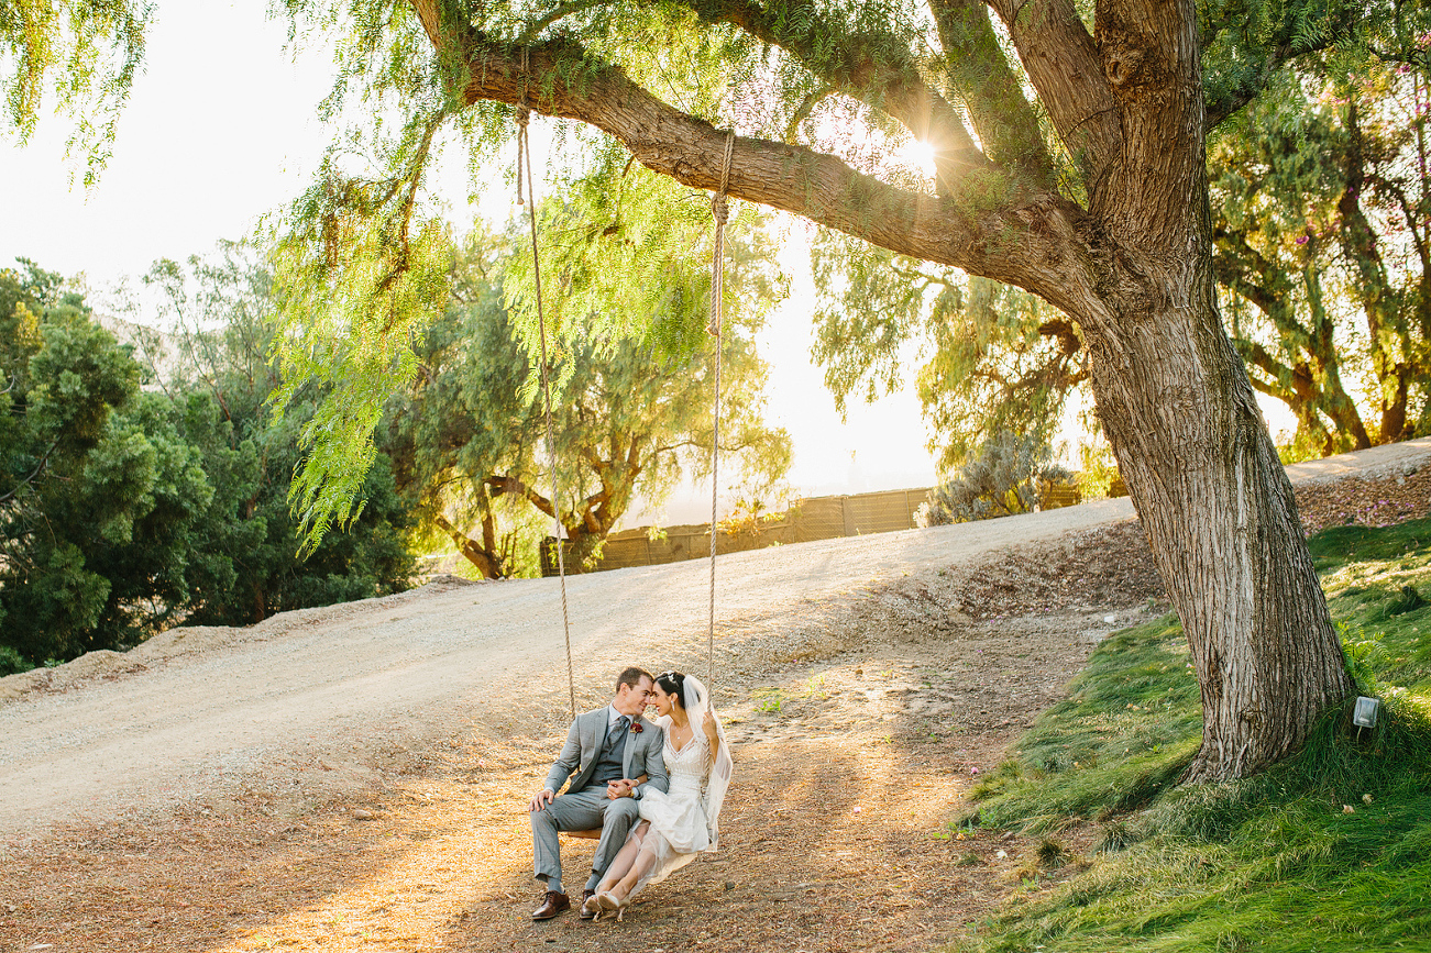
[[[627, 209], [628, 215], [631, 209]], [[572, 213], [558, 209], [550, 222], [554, 232], [572, 226]], [[628, 511], [637, 494], [660, 502], [684, 471], [708, 474], [714, 353], [617, 336], [567, 336], [552, 368], [552, 418], [558, 501], [552, 498], [545, 445], [545, 411], [541, 392], [528, 388], [531, 355], [504, 306], [504, 275], [524, 255], [522, 235], [498, 256], [491, 242], [477, 238], [459, 259], [454, 303], [434, 325], [418, 349], [421, 371], [391, 406], [388, 452], [399, 487], [421, 494], [424, 512], [482, 575], [497, 578], [515, 568], [512, 532], [498, 527], [498, 502], [519, 501], [548, 519], [560, 515], [574, 568], [600, 557], [607, 534]], [[580, 245], [565, 249], [554, 242], [554, 272], [562, 285], [590, 288]], [[733, 243], [741, 280], [731, 282], [731, 308], [726, 315], [721, 399], [721, 452], [726, 466], [737, 465], [761, 487], [784, 475], [790, 465], [790, 438], [767, 428], [760, 418], [766, 365], [756, 353], [751, 332], [771, 303], [768, 289], [750, 280], [757, 268], [748, 239]], [[695, 293], [704, 273], [690, 262], [655, 256], [664, 262], [668, 308], [684, 312], [704, 305]], [[519, 259], [518, 259], [519, 260]], [[555, 265], [555, 260], [552, 262]], [[628, 278], [628, 276], [627, 276]], [[514, 283], [524, 288], [519, 276]], [[757, 308], [744, 302], [751, 286]], [[521, 290], [514, 292], [518, 296]], [[562, 295], [554, 308], [560, 319], [574, 295]], [[668, 315], [674, 328], [695, 322], [684, 313]], [[582, 325], [577, 325], [581, 328]], [[738, 462], [737, 462], [738, 461]], [[730, 472], [730, 471], [727, 471]], [[454, 524], [454, 512], [462, 525]], [[517, 514], [519, 518], [519, 512]], [[464, 527], [478, 524], [479, 537]]]

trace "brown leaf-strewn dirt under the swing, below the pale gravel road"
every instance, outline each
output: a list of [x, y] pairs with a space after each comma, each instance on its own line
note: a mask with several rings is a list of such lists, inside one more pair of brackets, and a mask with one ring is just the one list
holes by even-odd
[[[1017, 582], [1027, 558], [983, 571]], [[929, 949], [1047, 877], [1027, 844], [947, 826], [967, 784], [1103, 635], [1159, 611], [1135, 524], [1035, 558], [1056, 568], [1046, 578], [1106, 578], [1109, 604], [1045, 598], [1037, 614], [993, 618], [997, 587], [944, 570], [821, 607], [819, 638], [741, 637], [741, 674], [723, 683], [740, 771], [724, 849], [653, 887], [624, 923], [528, 917], [524, 804], [565, 694], [532, 680], [521, 705], [491, 700], [424, 748], [375, 753], [348, 794], [305, 804], [263, 778], [14, 846], [0, 864], [0, 946]], [[695, 661], [698, 645], [683, 654], [675, 664]], [[346, 768], [315, 756], [293, 770], [326, 784]], [[570, 869], [591, 850], [568, 843]]]

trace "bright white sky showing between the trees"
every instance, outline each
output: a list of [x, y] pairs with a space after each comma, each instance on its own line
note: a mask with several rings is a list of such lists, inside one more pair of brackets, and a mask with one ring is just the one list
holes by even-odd
[[[113, 157], [89, 192], [83, 169], [70, 185], [63, 117], [43, 116], [24, 149], [0, 142], [0, 262], [24, 256], [67, 278], [83, 273], [103, 300], [106, 288], [143, 275], [155, 259], [207, 253], [298, 195], [332, 136], [316, 117], [331, 63], [322, 53], [285, 53], [286, 26], [266, 19], [266, 7], [159, 4]], [[534, 140], [541, 149], [535, 124]], [[462, 163], [451, 165], [455, 175], [444, 172], [442, 192], [461, 207]], [[508, 203], [489, 190], [481, 212], [499, 216]], [[811, 497], [932, 485], [934, 461], [910, 389], [851, 406], [840, 419], [809, 358], [813, 288], [804, 259], [798, 249], [787, 259], [793, 293], [760, 346], [771, 365], [767, 419], [794, 438], [791, 488]], [[708, 485], [683, 487], [664, 508], [633, 515], [678, 524], [703, 514], [708, 519]]]

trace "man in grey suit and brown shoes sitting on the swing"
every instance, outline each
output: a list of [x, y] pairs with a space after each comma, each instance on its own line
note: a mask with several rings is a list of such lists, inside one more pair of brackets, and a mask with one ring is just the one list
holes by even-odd
[[[650, 787], [665, 790], [664, 733], [641, 717], [653, 684], [651, 673], [644, 668], [622, 671], [611, 704], [571, 723], [567, 744], [547, 773], [547, 787], [532, 797], [532, 857], [537, 879], [547, 886], [547, 896], [532, 912], [532, 920], [550, 920], [571, 909], [561, 884], [557, 831], [601, 829], [591, 877], [581, 897], [585, 907], [637, 821], [641, 794]], [[558, 797], [557, 791], [568, 778], [567, 793]], [[591, 916], [582, 910], [584, 920]]]

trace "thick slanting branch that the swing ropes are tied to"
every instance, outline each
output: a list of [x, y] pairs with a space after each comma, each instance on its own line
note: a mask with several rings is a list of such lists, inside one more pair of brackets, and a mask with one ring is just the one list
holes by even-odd
[[[694, 189], [717, 190], [726, 133], [641, 89], [627, 74], [588, 57], [568, 39], [525, 52], [462, 40], [467, 102], [528, 104], [577, 119], [618, 139], [647, 169]], [[580, 64], [580, 66], [578, 66]], [[1003, 200], [992, 189], [1003, 187]], [[728, 193], [793, 212], [900, 255], [953, 265], [1030, 290], [1069, 312], [1096, 300], [1078, 238], [1082, 210], [1053, 193], [1029, 196], [1006, 177], [972, 175], [959, 196], [936, 199], [859, 173], [803, 146], [737, 136]], [[977, 197], [975, 197], [977, 195]]]

